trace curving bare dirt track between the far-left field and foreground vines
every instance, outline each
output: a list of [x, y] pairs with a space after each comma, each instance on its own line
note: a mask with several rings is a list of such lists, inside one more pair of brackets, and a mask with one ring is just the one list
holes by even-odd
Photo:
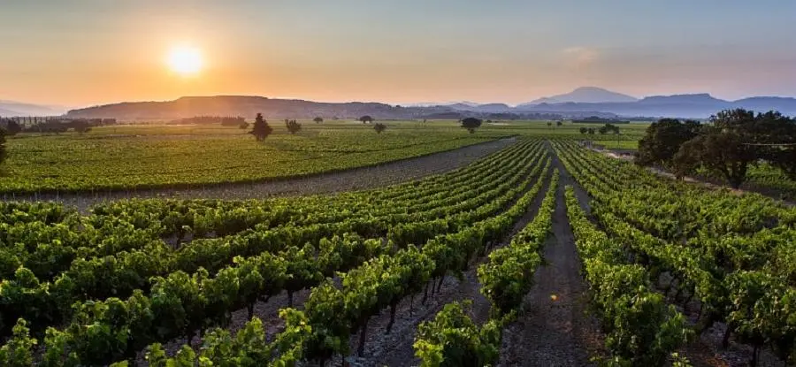
[[433, 153], [423, 157], [407, 158], [369, 167], [353, 168], [341, 172], [272, 180], [256, 183], [229, 183], [226, 185], [151, 190], [116, 191], [68, 195], [4, 195], [4, 200], [54, 201], [87, 210], [95, 203], [128, 198], [178, 198], [178, 199], [256, 199], [265, 196], [327, 194], [341, 191], [384, 187], [432, 174], [455, 170], [471, 164], [480, 157], [505, 148], [517, 141], [506, 138], [469, 145], [467, 147]]

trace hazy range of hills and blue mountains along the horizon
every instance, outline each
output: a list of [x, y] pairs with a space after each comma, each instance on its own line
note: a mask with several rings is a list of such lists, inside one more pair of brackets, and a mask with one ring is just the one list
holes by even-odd
[[[0, 115], [53, 115], [48, 106], [0, 101]], [[410, 103], [403, 106], [375, 102], [321, 103], [263, 96], [186, 96], [164, 102], [125, 102], [68, 111], [73, 118], [180, 119], [200, 115], [244, 116], [262, 112], [268, 119], [358, 118], [375, 119], [461, 119], [476, 116], [486, 119], [569, 119], [588, 116], [622, 118], [693, 118], [705, 119], [730, 108], [754, 111], [780, 111], [796, 115], [796, 98], [754, 96], [736, 101], [718, 99], [708, 94], [647, 96], [635, 98], [603, 88], [583, 87], [570, 93], [547, 96], [529, 103], [509, 106], [506, 103]], [[31, 110], [33, 109], [33, 110]], [[8, 113], [15, 111], [19, 113]], [[20, 111], [25, 110], [25, 111]], [[42, 111], [42, 112], [34, 112]]]

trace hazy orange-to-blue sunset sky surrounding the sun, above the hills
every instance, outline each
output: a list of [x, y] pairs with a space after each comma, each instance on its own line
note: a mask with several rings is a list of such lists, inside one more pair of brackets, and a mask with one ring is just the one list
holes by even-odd
[[0, 0], [0, 99], [796, 96], [794, 34], [793, 0]]

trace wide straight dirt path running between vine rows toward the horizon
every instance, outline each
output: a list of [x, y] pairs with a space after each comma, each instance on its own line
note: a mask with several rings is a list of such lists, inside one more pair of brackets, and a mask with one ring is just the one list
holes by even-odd
[[547, 265], [536, 271], [536, 285], [525, 296], [523, 312], [503, 333], [501, 366], [593, 365], [590, 357], [602, 350], [597, 321], [587, 314], [588, 287], [580, 275], [581, 262], [564, 204], [564, 187], [575, 182], [549, 143], [547, 149], [553, 167], [561, 172], [555, 193], [553, 235], [544, 248]]

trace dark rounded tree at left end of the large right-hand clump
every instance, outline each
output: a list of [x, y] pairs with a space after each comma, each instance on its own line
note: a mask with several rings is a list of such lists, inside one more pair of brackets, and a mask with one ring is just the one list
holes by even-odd
[[647, 127], [639, 141], [639, 150], [634, 162], [642, 166], [660, 164], [670, 168], [677, 150], [697, 136], [700, 123], [693, 120], [660, 119]]

